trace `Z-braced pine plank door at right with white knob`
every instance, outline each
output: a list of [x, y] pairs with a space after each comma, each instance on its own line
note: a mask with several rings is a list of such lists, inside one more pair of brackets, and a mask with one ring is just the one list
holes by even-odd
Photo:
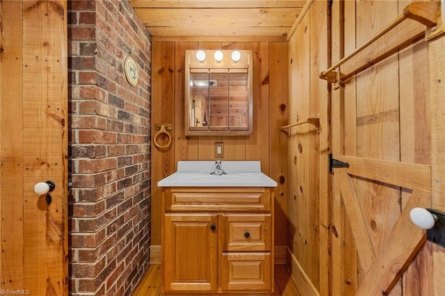
[[[332, 61], [407, 3], [334, 1]], [[444, 46], [413, 40], [332, 90], [332, 153], [349, 164], [332, 173], [332, 295], [443, 295], [444, 249], [410, 211], [445, 209]], [[371, 44], [362, 58], [381, 50]]]

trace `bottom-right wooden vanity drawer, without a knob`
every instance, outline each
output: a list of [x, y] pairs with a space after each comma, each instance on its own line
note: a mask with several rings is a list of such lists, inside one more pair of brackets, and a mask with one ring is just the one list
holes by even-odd
[[223, 253], [223, 290], [270, 290], [273, 277], [270, 253]]

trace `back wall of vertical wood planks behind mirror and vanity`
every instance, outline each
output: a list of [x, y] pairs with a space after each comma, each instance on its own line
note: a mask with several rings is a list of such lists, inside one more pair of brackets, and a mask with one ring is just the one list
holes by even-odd
[[[172, 145], [152, 145], [152, 245], [161, 245], [159, 180], [175, 172], [177, 161], [212, 161], [214, 143], [224, 143], [224, 161], [261, 161], [261, 170], [277, 181], [275, 245], [286, 245], [287, 139], [280, 126], [288, 122], [286, 42], [230, 42], [152, 39], [152, 139], [155, 124], [172, 123]], [[253, 114], [251, 136], [184, 135], [184, 61], [187, 49], [253, 51]], [[159, 142], [163, 139], [159, 137]], [[152, 142], [153, 144], [153, 142]]]

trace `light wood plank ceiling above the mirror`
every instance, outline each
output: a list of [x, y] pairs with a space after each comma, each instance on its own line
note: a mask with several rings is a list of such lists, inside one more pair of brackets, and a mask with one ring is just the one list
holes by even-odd
[[152, 36], [287, 40], [306, 0], [129, 0]]

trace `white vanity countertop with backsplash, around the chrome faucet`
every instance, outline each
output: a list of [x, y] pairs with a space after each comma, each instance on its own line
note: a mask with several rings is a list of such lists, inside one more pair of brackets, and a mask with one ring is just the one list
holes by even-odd
[[215, 171], [215, 161], [178, 161], [178, 170], [158, 182], [159, 187], [276, 187], [261, 172], [259, 161], [222, 161], [226, 174]]

